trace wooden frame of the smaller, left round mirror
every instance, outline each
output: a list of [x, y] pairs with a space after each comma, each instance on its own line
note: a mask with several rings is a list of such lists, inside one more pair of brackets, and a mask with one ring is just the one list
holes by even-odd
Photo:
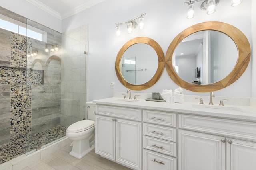
[[[124, 79], [124, 77], [122, 76], [121, 71], [120, 71], [120, 61], [121, 61], [122, 55], [124, 54], [126, 49], [128, 49], [130, 46], [137, 44], [137, 43], [145, 43], [145, 44], [150, 45], [156, 51], [156, 54], [158, 56], [158, 68], [156, 70], [156, 73], [148, 82], [146, 82], [144, 84], [139, 84], [139, 85], [130, 84], [129, 82], [127, 82]], [[160, 76], [162, 75], [162, 72], [164, 71], [164, 64], [165, 64], [164, 52], [163, 52], [162, 48], [160, 47], [160, 45], [156, 41], [154, 41], [153, 39], [148, 38], [148, 37], [136, 37], [134, 39], [129, 40], [127, 43], [125, 43], [119, 50], [119, 52], [116, 56], [116, 64], [115, 64], [116, 76], [118, 77], [118, 80], [128, 89], [145, 90], [145, 89], [153, 86], [159, 80]]]

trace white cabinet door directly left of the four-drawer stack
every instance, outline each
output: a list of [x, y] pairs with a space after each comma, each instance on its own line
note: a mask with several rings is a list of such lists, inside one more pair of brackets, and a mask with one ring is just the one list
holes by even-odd
[[117, 119], [116, 121], [116, 162], [132, 169], [141, 169], [142, 162], [141, 122]]

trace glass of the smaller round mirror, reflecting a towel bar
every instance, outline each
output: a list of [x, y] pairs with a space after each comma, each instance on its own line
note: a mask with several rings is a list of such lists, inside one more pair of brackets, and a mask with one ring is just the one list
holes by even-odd
[[137, 43], [122, 55], [120, 70], [124, 79], [134, 85], [148, 82], [156, 73], [158, 57], [148, 44]]

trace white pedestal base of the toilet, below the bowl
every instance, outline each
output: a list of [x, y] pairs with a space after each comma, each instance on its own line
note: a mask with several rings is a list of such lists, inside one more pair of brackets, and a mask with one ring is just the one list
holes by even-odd
[[90, 142], [88, 139], [73, 141], [72, 151], [69, 153], [70, 156], [81, 159], [86, 154], [88, 154], [91, 150], [94, 149], [94, 145], [90, 147]]

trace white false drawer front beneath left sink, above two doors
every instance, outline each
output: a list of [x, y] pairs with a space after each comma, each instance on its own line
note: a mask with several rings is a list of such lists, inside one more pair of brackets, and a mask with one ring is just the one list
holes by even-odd
[[96, 105], [95, 109], [97, 115], [105, 115], [134, 121], [141, 121], [142, 119], [141, 109], [104, 105]]

